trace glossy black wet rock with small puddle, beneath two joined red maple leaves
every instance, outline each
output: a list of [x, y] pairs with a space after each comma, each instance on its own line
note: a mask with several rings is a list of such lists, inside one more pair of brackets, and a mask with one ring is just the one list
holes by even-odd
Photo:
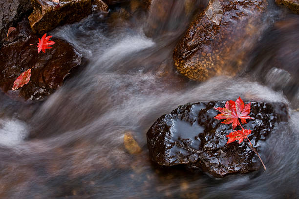
[[[225, 101], [186, 104], [161, 116], [147, 132], [150, 158], [164, 166], [186, 164], [201, 168], [216, 177], [257, 170], [259, 159], [246, 143], [226, 144], [225, 136], [232, 132], [232, 125], [214, 119], [218, 114], [214, 106], [224, 104]], [[283, 103], [252, 102], [250, 116], [254, 119], [247, 119], [243, 127], [253, 131], [249, 139], [255, 149], [288, 119]]]

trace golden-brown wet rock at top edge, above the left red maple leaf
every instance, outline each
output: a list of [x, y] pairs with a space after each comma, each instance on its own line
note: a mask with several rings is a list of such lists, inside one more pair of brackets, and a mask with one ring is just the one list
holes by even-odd
[[29, 22], [34, 33], [44, 34], [65, 23], [82, 20], [91, 14], [91, 0], [32, 0]]

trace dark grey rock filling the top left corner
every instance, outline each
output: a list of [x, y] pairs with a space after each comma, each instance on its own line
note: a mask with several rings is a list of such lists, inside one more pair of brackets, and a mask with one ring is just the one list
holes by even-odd
[[5, 39], [8, 28], [16, 25], [22, 15], [31, 8], [30, 0], [0, 1], [0, 44]]

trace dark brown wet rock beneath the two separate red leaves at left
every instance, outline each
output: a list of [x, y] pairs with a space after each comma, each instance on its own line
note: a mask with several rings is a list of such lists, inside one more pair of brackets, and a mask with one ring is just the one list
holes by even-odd
[[[25, 100], [43, 100], [58, 89], [70, 72], [81, 63], [81, 55], [66, 41], [55, 41], [52, 49], [38, 54], [38, 36], [30, 29], [28, 19], [18, 23], [0, 49], [0, 88], [9, 96]], [[28, 84], [12, 91], [14, 80], [25, 70], [34, 67]]]

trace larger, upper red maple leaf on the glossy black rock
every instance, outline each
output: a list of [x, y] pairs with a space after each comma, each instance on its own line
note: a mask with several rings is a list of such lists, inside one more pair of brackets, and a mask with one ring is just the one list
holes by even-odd
[[[239, 120], [243, 124], [247, 123], [246, 119], [252, 119], [248, 116], [250, 113], [250, 102], [244, 105], [244, 101], [239, 97], [237, 100], [229, 100], [225, 103], [225, 108], [215, 108], [217, 111], [221, 112], [214, 117], [214, 119], [225, 119], [221, 123], [230, 124], [233, 123], [233, 129], [239, 124]], [[241, 126], [242, 127], [242, 126]]]

